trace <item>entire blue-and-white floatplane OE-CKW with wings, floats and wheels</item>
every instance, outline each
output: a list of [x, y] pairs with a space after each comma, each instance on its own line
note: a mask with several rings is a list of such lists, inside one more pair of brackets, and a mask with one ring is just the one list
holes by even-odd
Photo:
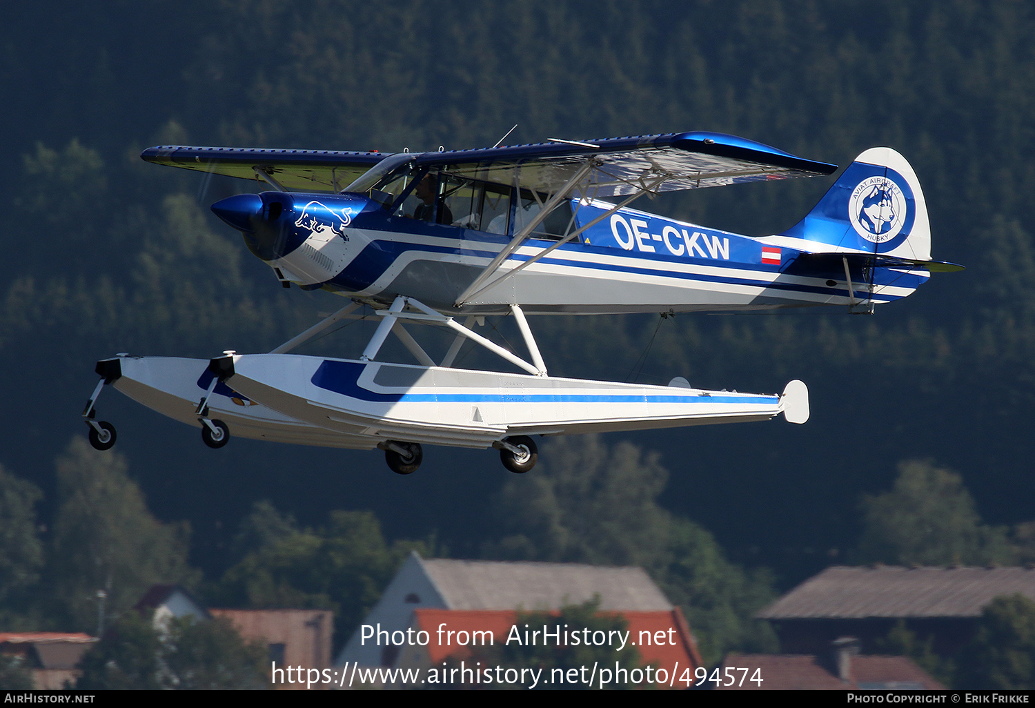
[[[637, 211], [644, 195], [789, 177], [833, 165], [714, 132], [384, 154], [158, 146], [150, 163], [265, 180], [272, 189], [212, 210], [285, 286], [351, 299], [266, 354], [227, 351], [211, 361], [120, 354], [97, 362], [101, 380], [84, 416], [94, 447], [115, 443], [94, 403], [112, 384], [129, 397], [201, 427], [211, 447], [230, 435], [385, 451], [408, 474], [421, 444], [495, 447], [504, 465], [536, 462], [530, 436], [808, 418], [808, 391], [710, 391], [548, 375], [526, 315], [751, 312], [841, 305], [869, 313], [906, 297], [930, 271], [923, 194], [890, 148], [859, 155], [797, 226], [752, 238]], [[289, 352], [362, 305], [380, 323], [362, 356]], [[527, 354], [475, 331], [512, 315]], [[459, 321], [462, 319], [463, 322]], [[410, 323], [455, 333], [433, 358]], [[394, 333], [417, 363], [379, 358]], [[525, 372], [453, 365], [473, 341]], [[200, 401], [200, 403], [199, 403]]]

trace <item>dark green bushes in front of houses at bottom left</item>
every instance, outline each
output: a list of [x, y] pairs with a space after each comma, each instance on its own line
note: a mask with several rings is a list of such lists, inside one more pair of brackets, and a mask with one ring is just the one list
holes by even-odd
[[124, 615], [84, 655], [78, 689], [264, 688], [265, 651], [226, 618], [173, 618], [164, 629]]

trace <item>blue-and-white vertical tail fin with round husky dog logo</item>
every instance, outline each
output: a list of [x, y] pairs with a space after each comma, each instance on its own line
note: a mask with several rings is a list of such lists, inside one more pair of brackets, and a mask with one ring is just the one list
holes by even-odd
[[782, 234], [824, 243], [818, 250], [930, 260], [930, 224], [920, 181], [891, 148], [855, 158], [801, 222]]

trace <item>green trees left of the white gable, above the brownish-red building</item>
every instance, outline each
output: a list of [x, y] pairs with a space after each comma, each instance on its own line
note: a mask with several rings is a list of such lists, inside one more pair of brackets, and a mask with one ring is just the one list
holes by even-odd
[[[262, 528], [264, 524], [269, 525]], [[299, 529], [268, 502], [253, 507], [239, 537], [255, 545], [213, 588], [214, 601], [332, 610], [338, 642], [378, 601], [406, 556], [411, 551], [427, 554], [430, 545], [389, 544], [371, 511], [332, 511], [326, 527]]]

